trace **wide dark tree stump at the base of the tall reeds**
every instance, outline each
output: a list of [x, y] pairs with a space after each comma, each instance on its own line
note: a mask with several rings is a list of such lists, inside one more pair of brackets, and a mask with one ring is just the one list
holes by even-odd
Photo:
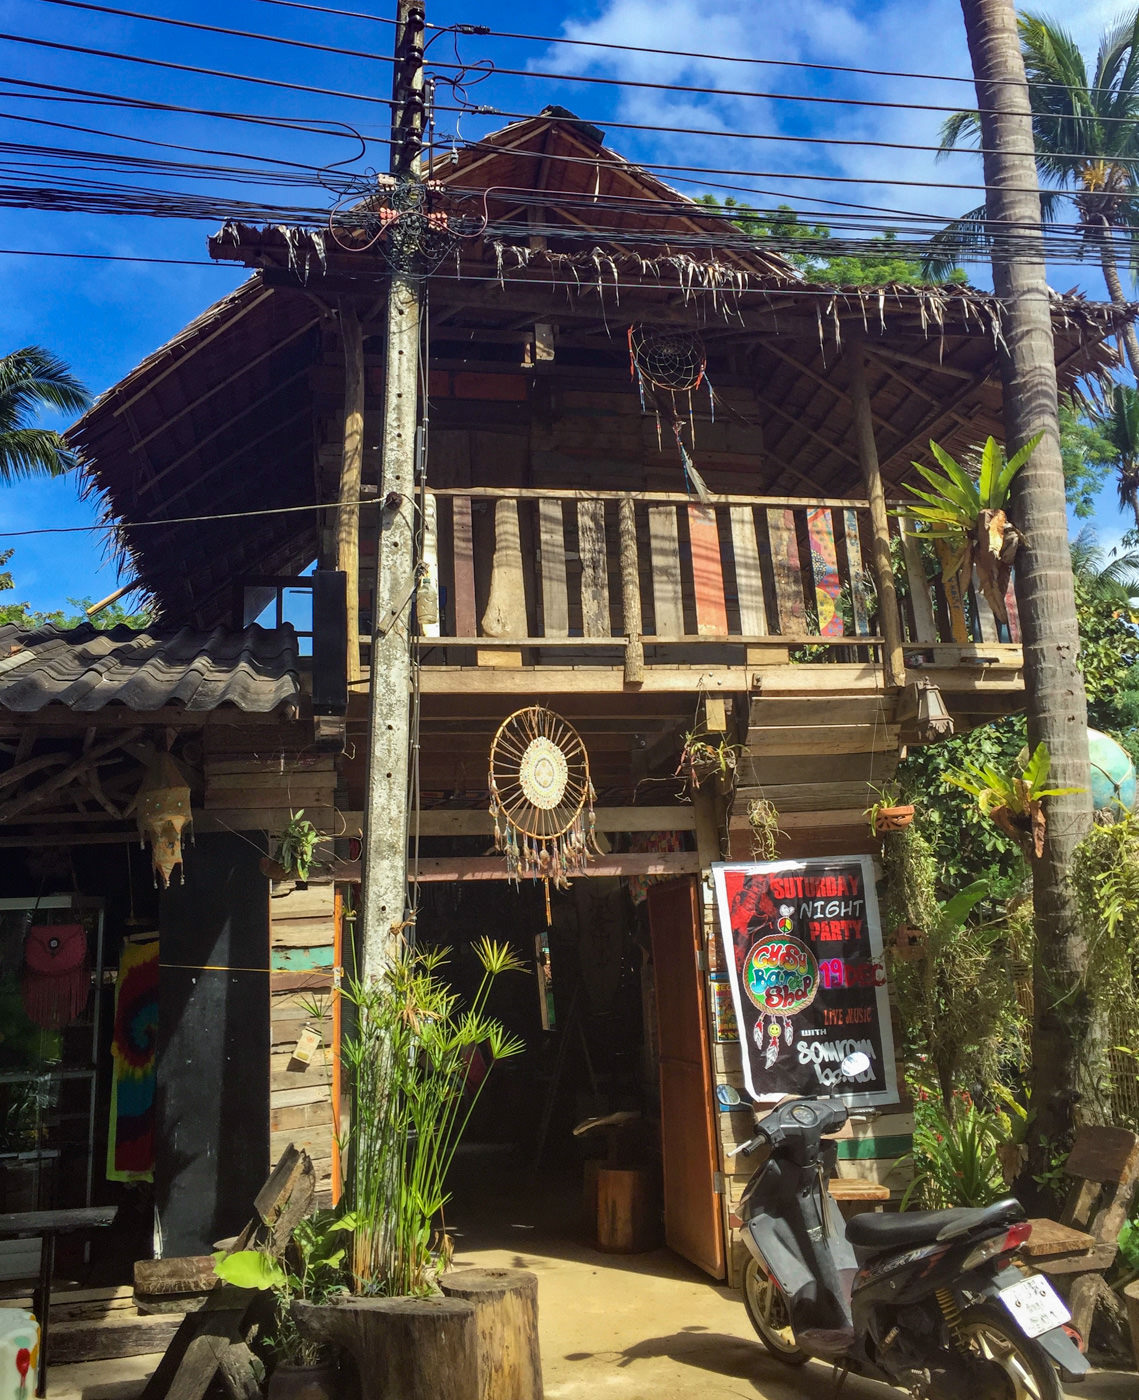
[[480, 1400], [476, 1309], [459, 1298], [294, 1302], [299, 1330], [355, 1361], [361, 1400]]

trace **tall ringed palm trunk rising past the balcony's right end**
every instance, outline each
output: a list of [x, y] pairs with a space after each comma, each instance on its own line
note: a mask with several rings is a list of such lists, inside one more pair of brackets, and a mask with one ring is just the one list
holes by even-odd
[[[1012, 517], [1024, 543], [1017, 554], [1016, 598], [1024, 643], [1028, 743], [1052, 756], [1056, 787], [1082, 792], [1047, 805], [1044, 853], [1034, 857], [1035, 1014], [1031, 1102], [1035, 1110], [1028, 1177], [1047, 1163], [1049, 1145], [1069, 1140], [1079, 1098], [1091, 1008], [1083, 977], [1087, 949], [1066, 872], [1091, 825], [1087, 699], [1076, 666], [1079, 630], [1063, 500], [1056, 413], [1056, 370], [1028, 88], [1010, 0], [961, 0], [981, 113], [993, 239], [993, 287], [1005, 305], [1005, 430], [1012, 451], [1042, 433], [1013, 486]], [[1002, 248], [1000, 225], [1017, 232]], [[1041, 1147], [1041, 1141], [1047, 1145]]]

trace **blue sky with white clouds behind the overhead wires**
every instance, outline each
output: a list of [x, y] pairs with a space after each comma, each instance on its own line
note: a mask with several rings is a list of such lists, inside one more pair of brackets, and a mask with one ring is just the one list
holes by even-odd
[[[112, 0], [113, 3], [113, 0]], [[320, 3], [320, 0], [313, 0]], [[337, 0], [329, 0], [337, 6]], [[132, 8], [132, 0], [122, 0]], [[364, 18], [337, 18], [288, 8], [266, 0], [154, 0], [134, 6], [147, 13], [249, 29], [259, 35], [305, 39], [340, 49], [386, 55], [392, 46], [388, 24]], [[372, 0], [339, 0], [346, 10], [372, 10]], [[1056, 6], [1056, 10], [1061, 7]], [[1069, 8], [1069, 7], [1063, 7]], [[1083, 0], [1075, 15], [1065, 15], [1084, 52], [1094, 49], [1103, 27], [1118, 11], [1118, 0]], [[393, 0], [382, 0], [375, 14], [390, 17]], [[669, 49], [775, 59], [781, 63], [838, 63], [849, 67], [890, 67], [905, 71], [968, 74], [961, 13], [956, 0], [813, 0], [800, 6], [758, 6], [756, 0], [599, 0], [593, 4], [529, 6], [507, 0], [428, 0], [432, 24], [484, 24], [497, 31], [523, 28], [554, 38], [600, 39], [611, 43], [658, 45]], [[116, 50], [174, 63], [221, 69], [231, 73], [327, 87], [354, 94], [386, 97], [390, 67], [367, 57], [313, 53], [264, 42], [176, 29], [146, 20], [99, 14], [49, 3], [6, 0], [3, 31], [8, 35], [46, 39], [84, 48]], [[875, 78], [856, 74], [809, 73], [789, 67], [718, 64], [670, 55], [613, 53], [568, 45], [462, 38], [465, 62], [491, 59], [500, 69], [528, 73], [551, 71], [695, 87], [746, 88], [765, 92], [877, 98], [935, 105], [968, 105], [972, 91], [964, 84], [928, 80]], [[439, 38], [431, 56], [453, 59], [451, 38]], [[55, 101], [20, 81], [55, 84], [63, 92]], [[109, 57], [69, 53], [0, 38], [0, 140], [56, 146], [73, 150], [115, 150], [133, 154], [172, 155], [188, 161], [232, 164], [248, 168], [252, 157], [291, 160], [322, 167], [358, 151], [358, 144], [333, 136], [281, 132], [234, 120], [179, 113], [137, 113], [90, 102], [59, 101], [74, 90], [141, 97], [225, 112], [257, 113], [290, 120], [348, 122], [372, 144], [351, 169], [383, 168], [381, 144], [386, 108], [361, 99], [287, 92], [256, 84], [172, 73]], [[449, 101], [439, 88], [439, 102]], [[686, 165], [718, 165], [737, 169], [785, 172], [751, 182], [756, 200], [786, 202], [824, 217], [824, 207], [809, 196], [849, 199], [879, 207], [915, 210], [951, 217], [979, 196], [968, 190], [911, 188], [897, 181], [946, 181], [979, 178], [979, 161], [957, 155], [935, 165], [931, 153], [795, 144], [781, 140], [743, 141], [712, 136], [686, 139], [663, 132], [625, 132], [613, 122], [648, 127], [679, 126], [723, 132], [758, 132], [778, 136], [817, 136], [828, 140], [884, 140], [935, 146], [940, 113], [898, 112], [875, 108], [824, 106], [770, 97], [695, 97], [648, 88], [583, 85], [568, 78], [511, 77], [495, 73], [472, 90], [472, 101], [507, 112], [537, 112], [557, 102], [607, 127], [609, 144], [634, 160]], [[70, 122], [120, 133], [102, 134], [60, 130], [18, 118]], [[466, 116], [456, 132], [455, 113], [439, 113], [444, 137], [467, 139], [504, 125], [501, 119]], [[129, 137], [143, 140], [126, 140]], [[181, 143], [232, 155], [179, 155], [148, 147], [146, 141]], [[27, 157], [10, 154], [11, 162]], [[827, 182], [796, 176], [824, 175]], [[845, 176], [852, 183], [840, 183]], [[91, 179], [139, 182], [167, 189], [208, 192], [218, 199], [267, 197], [283, 203], [325, 207], [329, 195], [309, 188], [250, 188], [243, 181], [196, 176], [179, 182], [148, 175], [92, 172]], [[669, 176], [679, 188], [681, 176]], [[830, 183], [834, 181], [834, 183]], [[3, 183], [3, 179], [0, 179]], [[725, 190], [719, 190], [725, 193]], [[747, 197], [736, 192], [737, 197]], [[144, 218], [0, 209], [0, 249], [36, 252], [115, 253], [136, 258], [206, 260], [206, 239], [217, 220]], [[1049, 269], [1052, 284], [1079, 286], [1103, 295], [1094, 265]], [[984, 281], [981, 269], [971, 269]], [[115, 384], [144, 356], [175, 335], [217, 297], [231, 291], [241, 273], [231, 266], [161, 266], [141, 263], [81, 262], [0, 252], [0, 351], [39, 343], [67, 360], [95, 392]], [[60, 424], [52, 424], [60, 426]], [[78, 500], [77, 482], [18, 483], [0, 486], [0, 531], [48, 525], [83, 525], [97, 518], [97, 503]], [[1096, 518], [1100, 539], [1114, 543], [1125, 521], [1110, 496]], [[0, 535], [0, 550], [13, 546], [8, 568], [18, 596], [35, 608], [55, 608], [69, 596], [101, 596], [119, 581], [105, 561], [98, 535], [11, 538]]]

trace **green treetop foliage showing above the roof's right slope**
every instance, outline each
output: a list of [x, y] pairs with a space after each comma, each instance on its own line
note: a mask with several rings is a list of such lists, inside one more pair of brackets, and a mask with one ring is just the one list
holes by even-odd
[[775, 245], [809, 281], [830, 283], [837, 287], [884, 287], [890, 283], [951, 281], [963, 283], [964, 272], [950, 267], [931, 279], [922, 273], [921, 263], [904, 258], [894, 248], [897, 234], [893, 230], [872, 238], [870, 251], [859, 256], [828, 251], [831, 231], [826, 224], [809, 224], [789, 204], [772, 210], [757, 210], [730, 196], [722, 203], [715, 195], [702, 195], [700, 203], [709, 209], [730, 213], [733, 223], [753, 238]]

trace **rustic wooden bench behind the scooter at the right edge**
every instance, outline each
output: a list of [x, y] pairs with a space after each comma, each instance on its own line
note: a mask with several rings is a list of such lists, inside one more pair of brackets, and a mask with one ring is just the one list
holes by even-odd
[[1034, 1219], [1020, 1253], [1056, 1282], [1072, 1324], [1087, 1338], [1139, 1180], [1139, 1137], [1126, 1128], [1080, 1128], [1063, 1170], [1072, 1184], [1059, 1221]]

